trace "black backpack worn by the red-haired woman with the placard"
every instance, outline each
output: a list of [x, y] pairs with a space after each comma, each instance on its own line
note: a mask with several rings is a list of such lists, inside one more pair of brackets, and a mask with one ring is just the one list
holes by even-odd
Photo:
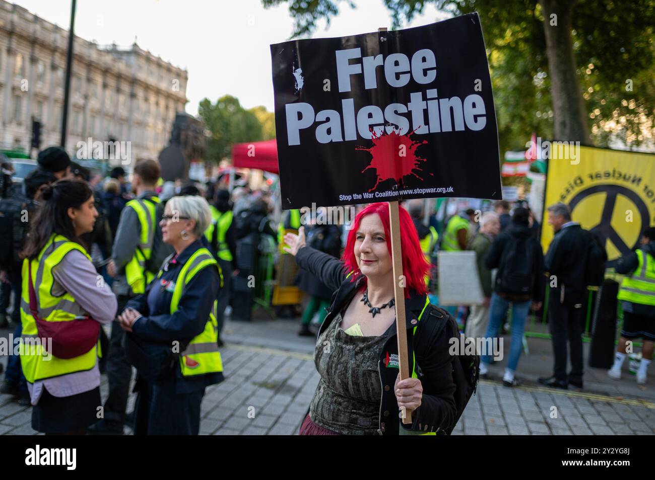
[[[441, 334], [441, 330], [444, 328], [449, 328], [450, 337], [459, 339], [460, 333], [457, 322], [455, 322], [455, 318], [447, 311], [430, 305], [426, 314], [434, 317], [434, 320], [438, 321], [436, 335]], [[417, 358], [419, 357], [417, 356]], [[480, 375], [480, 358], [476, 354], [467, 355], [464, 352], [460, 352], [458, 355], [453, 355], [452, 363], [453, 382], [455, 383], [455, 407], [457, 411], [455, 412], [453, 424], [445, 430], [445, 433], [448, 435], [453, 432], [455, 425], [457, 425], [460, 417], [462, 417], [462, 413], [464, 413], [466, 405], [468, 405], [468, 401], [476, 393], [477, 381]]]

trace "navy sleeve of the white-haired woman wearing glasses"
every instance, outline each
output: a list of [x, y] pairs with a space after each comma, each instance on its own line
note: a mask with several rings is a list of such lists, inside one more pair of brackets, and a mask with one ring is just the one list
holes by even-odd
[[218, 282], [216, 268], [203, 268], [187, 284], [175, 313], [141, 317], [134, 322], [132, 332], [146, 341], [188, 343], [205, 328], [218, 293]]

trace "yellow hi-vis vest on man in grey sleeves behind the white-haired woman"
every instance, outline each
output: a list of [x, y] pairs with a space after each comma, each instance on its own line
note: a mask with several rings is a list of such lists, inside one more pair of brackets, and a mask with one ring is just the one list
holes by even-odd
[[125, 204], [125, 207], [134, 209], [141, 226], [139, 245], [134, 251], [132, 260], [125, 266], [125, 279], [134, 294], [145, 292], [145, 286], [155, 277], [152, 272], [145, 269], [145, 262], [150, 258], [153, 249], [156, 228], [155, 203], [159, 202], [159, 197], [150, 197], [149, 200], [137, 198]]

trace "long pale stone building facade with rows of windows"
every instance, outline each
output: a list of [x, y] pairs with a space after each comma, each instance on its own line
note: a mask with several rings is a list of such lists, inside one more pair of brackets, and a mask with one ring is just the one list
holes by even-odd
[[[0, 148], [29, 151], [33, 119], [42, 124], [41, 148], [59, 145], [67, 43], [66, 29], [0, 0]], [[187, 78], [136, 43], [100, 46], [75, 37], [67, 152], [78, 156], [78, 143], [88, 139], [119, 141], [129, 142], [130, 158], [110, 158], [112, 165], [157, 160], [187, 103]]]

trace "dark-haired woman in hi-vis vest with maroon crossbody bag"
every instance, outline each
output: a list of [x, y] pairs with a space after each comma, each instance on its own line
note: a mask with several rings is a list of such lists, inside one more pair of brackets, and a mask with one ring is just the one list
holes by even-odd
[[100, 324], [111, 323], [117, 301], [80, 240], [98, 218], [88, 183], [58, 180], [43, 187], [39, 204], [21, 251], [19, 353], [31, 425], [84, 435], [102, 402]]

